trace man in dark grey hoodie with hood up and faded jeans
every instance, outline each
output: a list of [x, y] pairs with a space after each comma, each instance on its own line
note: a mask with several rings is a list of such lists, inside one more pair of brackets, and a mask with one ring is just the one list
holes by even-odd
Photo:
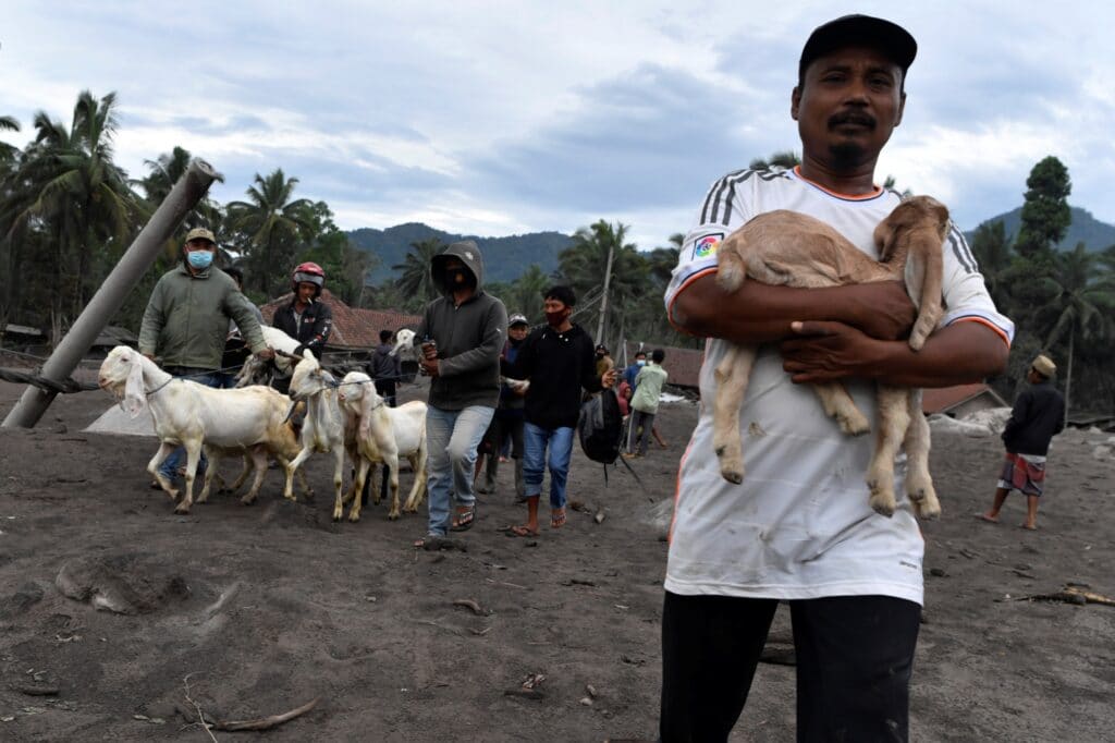
[[423, 374], [432, 379], [426, 412], [429, 528], [415, 542], [420, 548], [436, 547], [447, 530], [464, 531], [476, 520], [476, 446], [500, 399], [500, 351], [507, 328], [503, 302], [484, 292], [484, 259], [475, 242], [453, 243], [433, 258], [429, 270], [443, 296], [426, 306], [415, 332]]

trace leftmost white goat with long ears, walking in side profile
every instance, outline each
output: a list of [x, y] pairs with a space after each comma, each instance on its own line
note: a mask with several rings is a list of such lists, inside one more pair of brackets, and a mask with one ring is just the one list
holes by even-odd
[[[249, 453], [255, 464], [255, 480], [244, 496], [245, 502], [251, 502], [259, 493], [268, 453], [281, 454], [290, 448], [291, 431], [285, 423], [290, 401], [269, 387], [213, 389], [188, 379], [175, 379], [127, 346], [109, 351], [100, 365], [97, 382], [120, 401], [120, 407], [132, 417], [145, 405], [151, 406], [161, 446], [147, 463], [147, 472], [175, 500], [178, 491], [159, 473], [158, 466], [176, 446], [185, 447], [186, 489], [176, 513], [190, 512], [203, 446]], [[291, 490], [289, 474], [285, 489]], [[207, 486], [201, 500], [206, 495]]]

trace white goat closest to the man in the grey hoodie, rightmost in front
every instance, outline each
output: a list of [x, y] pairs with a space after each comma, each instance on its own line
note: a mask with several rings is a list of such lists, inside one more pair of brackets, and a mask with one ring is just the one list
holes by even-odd
[[[391, 508], [387, 518], [399, 518], [399, 457], [410, 462], [415, 482], [403, 506], [415, 513], [426, 492], [426, 403], [411, 402], [399, 407], [388, 407], [376, 394], [371, 377], [362, 372], [349, 372], [341, 382], [339, 399], [341, 409], [350, 418], [356, 416], [356, 450], [359, 453], [356, 480], [349, 495], [349, 521], [360, 520], [360, 492], [369, 470], [375, 474], [375, 465], [382, 464], [390, 471]], [[372, 477], [375, 502], [379, 503], [379, 491]], [[340, 498], [333, 506], [333, 521], [341, 518]]]

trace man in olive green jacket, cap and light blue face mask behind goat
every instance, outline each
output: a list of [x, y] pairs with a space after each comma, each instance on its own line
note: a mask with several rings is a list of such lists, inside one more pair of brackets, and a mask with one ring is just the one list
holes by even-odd
[[[274, 358], [251, 302], [227, 273], [213, 266], [215, 251], [216, 238], [205, 228], [186, 234], [182, 264], [155, 284], [139, 328], [140, 354], [153, 360], [157, 357], [163, 369], [176, 377], [210, 387], [220, 386], [217, 369], [230, 319], [254, 354]], [[184, 454], [180, 446], [163, 461], [159, 470], [167, 480], [177, 474]]]

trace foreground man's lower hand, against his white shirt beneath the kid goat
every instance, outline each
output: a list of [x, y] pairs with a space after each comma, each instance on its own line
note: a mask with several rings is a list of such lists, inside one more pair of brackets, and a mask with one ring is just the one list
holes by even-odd
[[795, 384], [871, 377], [884, 341], [843, 322], [793, 322], [797, 338], [784, 340], [778, 350], [782, 368]]

